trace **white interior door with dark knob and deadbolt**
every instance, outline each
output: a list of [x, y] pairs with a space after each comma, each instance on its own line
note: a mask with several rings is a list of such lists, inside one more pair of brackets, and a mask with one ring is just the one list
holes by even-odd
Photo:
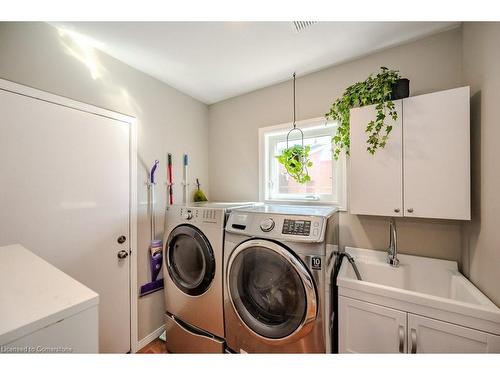
[[0, 114], [0, 245], [99, 293], [100, 351], [129, 351], [130, 124], [3, 90]]

